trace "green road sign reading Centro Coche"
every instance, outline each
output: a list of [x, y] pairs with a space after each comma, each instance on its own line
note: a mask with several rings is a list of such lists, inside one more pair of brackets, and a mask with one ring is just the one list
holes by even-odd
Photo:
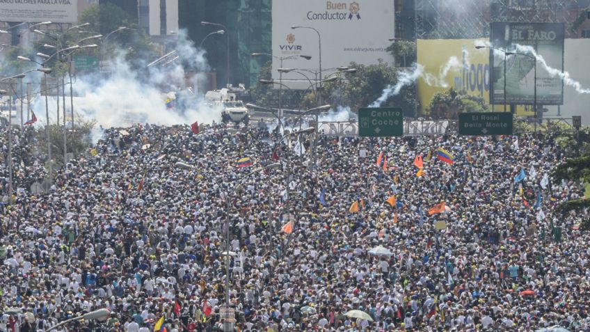
[[404, 115], [399, 107], [358, 110], [358, 136], [386, 137], [404, 135]]

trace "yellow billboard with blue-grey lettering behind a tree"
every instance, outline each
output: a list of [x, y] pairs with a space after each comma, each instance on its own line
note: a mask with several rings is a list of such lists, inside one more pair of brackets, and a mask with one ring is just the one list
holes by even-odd
[[[490, 51], [475, 48], [475, 45], [485, 45], [486, 41], [484, 38], [417, 40], [417, 63], [424, 66], [424, 73], [417, 82], [423, 113], [436, 93], [449, 88], [468, 95], [479, 95], [489, 104]], [[494, 105], [494, 111], [504, 111], [504, 105]], [[533, 112], [525, 112], [523, 107], [517, 108], [517, 114], [534, 115]]]

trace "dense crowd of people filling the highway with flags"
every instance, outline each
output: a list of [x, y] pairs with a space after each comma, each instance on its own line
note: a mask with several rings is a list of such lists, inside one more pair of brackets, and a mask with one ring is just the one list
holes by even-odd
[[554, 211], [583, 191], [551, 179], [566, 151], [550, 134], [314, 148], [256, 126], [136, 125], [104, 130], [44, 193], [43, 155], [19, 135], [2, 332], [100, 308], [104, 322], [52, 331], [222, 331], [228, 257], [237, 331], [590, 330], [588, 212]]

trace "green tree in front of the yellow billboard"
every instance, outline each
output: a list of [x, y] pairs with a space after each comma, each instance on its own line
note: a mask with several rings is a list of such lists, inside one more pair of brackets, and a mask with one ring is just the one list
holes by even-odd
[[435, 119], [456, 119], [459, 113], [479, 113], [489, 111], [484, 98], [475, 95], [459, 93], [450, 88], [441, 93], [436, 93], [428, 106], [427, 112]]

